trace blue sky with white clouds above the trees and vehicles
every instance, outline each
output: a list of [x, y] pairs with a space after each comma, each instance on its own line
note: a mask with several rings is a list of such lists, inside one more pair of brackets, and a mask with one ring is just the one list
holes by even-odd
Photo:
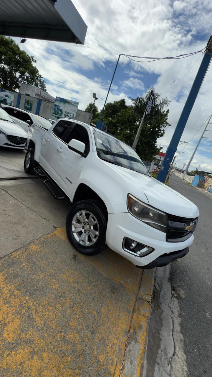
[[[92, 101], [93, 92], [98, 97], [95, 102], [98, 109], [103, 107], [119, 54], [144, 57], [186, 54], [203, 49], [212, 34], [211, 0], [72, 2], [88, 26], [84, 45], [28, 39], [20, 48], [37, 60], [48, 93], [78, 101], [81, 110]], [[202, 58], [199, 53], [180, 60], [137, 63], [121, 56], [108, 102], [124, 98], [131, 104], [131, 98], [143, 96], [151, 86], [167, 97], [171, 127], [166, 127], [164, 137], [158, 139], [158, 146], [165, 151]], [[188, 144], [178, 146], [178, 152], [182, 151], [175, 160], [178, 167], [189, 161], [204, 122], [212, 113], [211, 76], [212, 64], [181, 137]], [[212, 119], [207, 129], [211, 129], [204, 135], [208, 139], [202, 140], [189, 170], [199, 165], [201, 170], [212, 169]]]

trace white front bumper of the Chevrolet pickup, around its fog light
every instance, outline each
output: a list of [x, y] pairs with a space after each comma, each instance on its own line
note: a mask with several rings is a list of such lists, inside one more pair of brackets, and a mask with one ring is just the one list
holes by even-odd
[[[154, 250], [146, 256], [134, 255], [123, 249], [123, 239], [125, 237], [151, 247]], [[159, 265], [162, 266], [168, 264], [171, 261], [186, 255], [189, 251], [188, 247], [193, 241], [194, 236], [192, 234], [183, 242], [166, 242], [166, 233], [144, 224], [129, 212], [110, 213], [108, 215], [106, 232], [107, 245], [112, 250], [131, 261], [137, 267], [153, 268]], [[158, 259], [159, 257], [160, 259]]]

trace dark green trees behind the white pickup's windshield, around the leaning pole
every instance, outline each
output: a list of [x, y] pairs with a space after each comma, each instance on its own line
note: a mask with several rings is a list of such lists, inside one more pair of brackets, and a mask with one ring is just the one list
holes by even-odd
[[[132, 146], [149, 98], [148, 93], [144, 98], [138, 97], [132, 100], [132, 106], [127, 106], [125, 100], [106, 104], [102, 120], [108, 126], [108, 133]], [[136, 147], [136, 152], [143, 160], [151, 160], [158, 154], [161, 148], [157, 147], [157, 139], [164, 135], [165, 127], [170, 126], [167, 121], [169, 110], [164, 110], [169, 101], [167, 98], [160, 98], [158, 93], [155, 97], [155, 105], [152, 106], [150, 115], [144, 119]]]

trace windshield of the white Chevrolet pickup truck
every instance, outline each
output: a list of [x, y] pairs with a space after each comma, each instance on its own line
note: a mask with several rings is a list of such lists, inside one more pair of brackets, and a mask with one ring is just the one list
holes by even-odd
[[148, 175], [143, 162], [131, 147], [107, 133], [96, 130], [94, 130], [94, 139], [99, 158], [111, 162], [111, 164]]

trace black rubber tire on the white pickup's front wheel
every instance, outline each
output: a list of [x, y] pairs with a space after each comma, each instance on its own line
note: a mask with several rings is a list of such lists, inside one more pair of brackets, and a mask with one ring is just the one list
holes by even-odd
[[[95, 226], [98, 227], [98, 237], [95, 243], [90, 246], [81, 245], [75, 239], [74, 233], [72, 231], [72, 221], [76, 213], [82, 210], [85, 212], [89, 211], [97, 220], [97, 225]], [[101, 205], [101, 203], [98, 202], [97, 200], [86, 199], [86, 200], [82, 200], [80, 202], [73, 204], [66, 218], [66, 233], [67, 233], [68, 239], [71, 242], [72, 246], [81, 254], [96, 255], [96, 254], [101, 253], [101, 251], [104, 250], [104, 248], [106, 247], [106, 242], [105, 242], [106, 228], [107, 228], [107, 221], [106, 221], [105, 209], [103, 205]], [[81, 231], [81, 234], [83, 234], [83, 231]]]

